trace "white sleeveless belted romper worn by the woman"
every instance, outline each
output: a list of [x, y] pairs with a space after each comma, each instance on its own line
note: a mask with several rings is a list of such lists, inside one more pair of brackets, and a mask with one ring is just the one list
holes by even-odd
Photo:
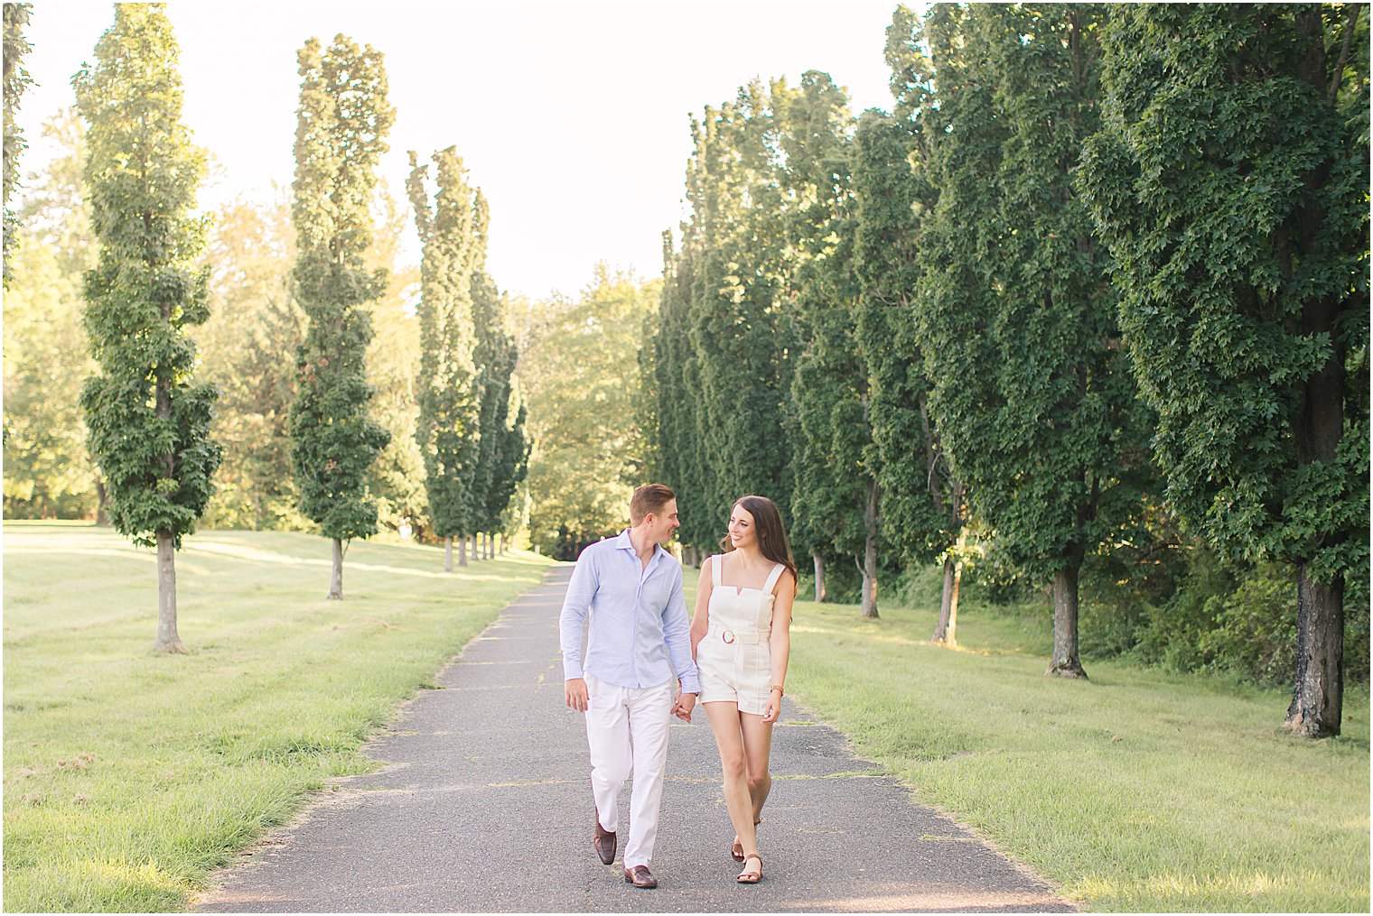
[[762, 588], [739, 588], [721, 584], [722, 559], [710, 561], [710, 628], [696, 646], [700, 702], [733, 702], [739, 712], [762, 716], [772, 694], [772, 590], [785, 566], [776, 564]]

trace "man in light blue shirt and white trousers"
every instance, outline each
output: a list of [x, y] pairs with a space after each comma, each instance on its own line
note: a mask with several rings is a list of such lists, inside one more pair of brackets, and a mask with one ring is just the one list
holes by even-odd
[[[682, 568], [660, 546], [680, 525], [676, 494], [662, 484], [640, 487], [629, 501], [629, 524], [618, 538], [592, 544], [577, 558], [559, 627], [567, 705], [586, 713], [596, 797], [592, 845], [601, 863], [615, 861], [619, 790], [633, 772], [625, 880], [658, 887], [648, 861], [658, 838], [667, 723], [673, 714], [691, 721], [700, 683], [691, 657]], [[673, 672], [681, 686], [676, 698]]]

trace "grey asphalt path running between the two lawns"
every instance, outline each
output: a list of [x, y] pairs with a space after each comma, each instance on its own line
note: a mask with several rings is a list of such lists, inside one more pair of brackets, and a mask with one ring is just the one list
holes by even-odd
[[[571, 566], [512, 602], [291, 824], [216, 875], [200, 912], [1068, 912], [1042, 879], [914, 804], [788, 697], [773, 731], [763, 879], [735, 883], [706, 716], [673, 720], [651, 868], [592, 849], [582, 716], [563, 702]], [[621, 849], [629, 786], [621, 795]]]

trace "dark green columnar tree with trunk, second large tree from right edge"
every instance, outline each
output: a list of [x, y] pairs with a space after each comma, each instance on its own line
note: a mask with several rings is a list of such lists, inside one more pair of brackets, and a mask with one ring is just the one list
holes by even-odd
[[[1048, 673], [1082, 676], [1078, 576], [1146, 466], [1105, 252], [1072, 191], [1096, 132], [1092, 5], [938, 4], [939, 189], [917, 332], [941, 440], [995, 546], [1053, 583]], [[932, 128], [932, 126], [930, 126]]]

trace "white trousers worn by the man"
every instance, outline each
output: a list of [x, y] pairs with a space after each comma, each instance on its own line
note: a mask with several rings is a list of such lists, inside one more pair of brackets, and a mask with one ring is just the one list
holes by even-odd
[[592, 751], [596, 816], [605, 830], [619, 830], [619, 790], [633, 771], [625, 868], [647, 865], [654, 857], [658, 806], [663, 799], [671, 682], [658, 687], [616, 687], [588, 673], [586, 692], [586, 745]]

